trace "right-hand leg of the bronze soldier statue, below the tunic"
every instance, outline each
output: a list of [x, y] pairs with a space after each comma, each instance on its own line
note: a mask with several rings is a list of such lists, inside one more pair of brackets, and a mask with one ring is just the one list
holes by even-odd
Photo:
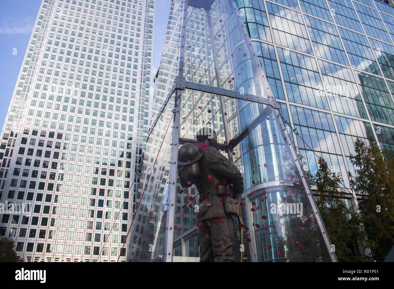
[[232, 218], [209, 220], [212, 232], [212, 249], [215, 262], [234, 262], [234, 225]]

